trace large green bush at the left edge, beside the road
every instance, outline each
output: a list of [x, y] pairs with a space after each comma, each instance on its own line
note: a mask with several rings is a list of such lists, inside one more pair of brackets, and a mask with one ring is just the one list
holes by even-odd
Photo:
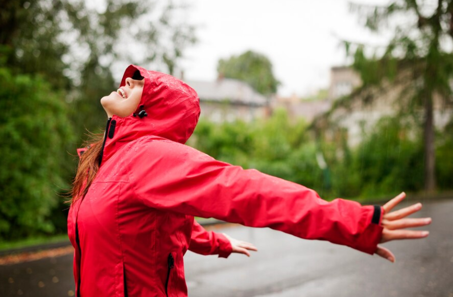
[[73, 142], [64, 92], [0, 68], [0, 238], [51, 233], [50, 213], [68, 188]]

